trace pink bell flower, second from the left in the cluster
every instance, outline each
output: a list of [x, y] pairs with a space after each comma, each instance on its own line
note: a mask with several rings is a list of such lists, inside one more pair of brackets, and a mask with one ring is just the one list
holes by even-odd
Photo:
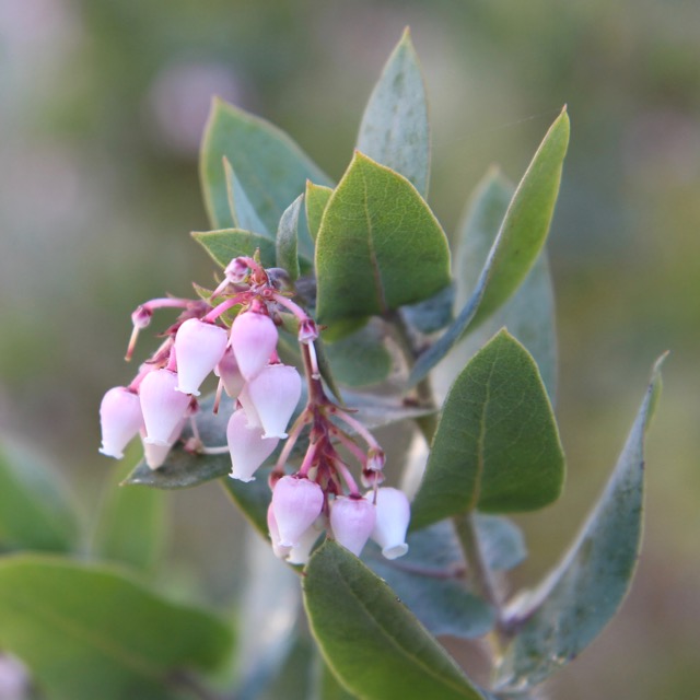
[[139, 387], [141, 410], [145, 423], [147, 443], [168, 445], [173, 431], [185, 416], [190, 398], [175, 390], [177, 374], [171, 370], [155, 370], [143, 377]]

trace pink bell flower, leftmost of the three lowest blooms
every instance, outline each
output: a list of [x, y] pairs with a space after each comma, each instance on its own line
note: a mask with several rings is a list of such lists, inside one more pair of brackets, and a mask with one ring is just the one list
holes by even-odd
[[324, 492], [304, 477], [282, 477], [272, 491], [272, 509], [280, 534], [281, 547], [295, 547], [304, 532], [318, 517], [324, 505]]

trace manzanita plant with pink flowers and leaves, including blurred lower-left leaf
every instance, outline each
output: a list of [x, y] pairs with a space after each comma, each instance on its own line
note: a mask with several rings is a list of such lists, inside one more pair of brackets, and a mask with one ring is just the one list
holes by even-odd
[[[46, 697], [535, 698], [591, 643], [638, 558], [660, 363], [561, 562], [532, 591], [506, 598], [502, 585], [526, 556], [506, 514], [552, 503], [564, 481], [545, 244], [568, 141], [563, 109], [516, 187], [489, 172], [451, 254], [427, 202], [425, 94], [408, 32], [338, 183], [277, 128], [214, 101], [201, 149], [213, 230], [194, 237], [220, 271], [194, 299], [135, 311], [127, 359], [154, 315], [162, 342], [105, 394], [101, 452], [120, 458], [140, 438], [125, 483], [141, 489], [219, 479], [279, 567], [299, 573], [308, 625], [214, 691], [191, 674], [230, 657], [222, 620], [114, 570], [10, 558], [0, 646]], [[218, 388], [201, 397], [212, 374]], [[377, 429], [399, 422], [410, 444], [383, 446]], [[122, 559], [148, 558], [124, 541]], [[488, 640], [489, 673], [457, 664], [444, 635]]]

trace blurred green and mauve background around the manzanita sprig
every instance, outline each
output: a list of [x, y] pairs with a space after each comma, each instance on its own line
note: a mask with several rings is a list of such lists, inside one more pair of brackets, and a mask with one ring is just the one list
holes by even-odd
[[[430, 201], [454, 231], [497, 162], [520, 178], [567, 103], [552, 228], [560, 503], [520, 518], [534, 583], [573, 537], [654, 359], [645, 544], [565, 700], [700, 695], [700, 4], [697, 0], [0, 0], [0, 422], [66, 472], [86, 520], [115, 469], [97, 407], [127, 382], [129, 314], [212, 266], [197, 149], [212, 94], [290, 132], [334, 177], [405, 25], [431, 100]], [[144, 353], [143, 348], [141, 352]], [[144, 357], [144, 354], [140, 355]], [[171, 565], [211, 600], [242, 579], [215, 486], [168, 494]]]

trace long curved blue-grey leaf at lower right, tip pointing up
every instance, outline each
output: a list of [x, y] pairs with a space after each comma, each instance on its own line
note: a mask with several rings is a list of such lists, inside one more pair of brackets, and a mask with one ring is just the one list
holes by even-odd
[[629, 591], [642, 530], [644, 435], [661, 390], [661, 358], [615, 470], [561, 563], [510, 610], [516, 633], [499, 687], [533, 687], [578, 656]]

